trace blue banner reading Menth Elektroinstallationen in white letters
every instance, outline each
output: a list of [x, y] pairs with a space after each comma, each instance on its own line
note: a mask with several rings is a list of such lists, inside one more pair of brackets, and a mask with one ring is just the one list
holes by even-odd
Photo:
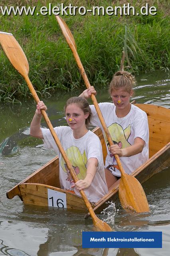
[[82, 232], [83, 248], [162, 248], [162, 232]]

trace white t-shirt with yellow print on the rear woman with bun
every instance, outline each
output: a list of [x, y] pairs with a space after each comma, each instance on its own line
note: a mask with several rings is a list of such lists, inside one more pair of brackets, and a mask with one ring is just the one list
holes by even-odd
[[[102, 129], [103, 134], [105, 134], [101, 122], [98, 118], [95, 106], [91, 105], [90, 108], [93, 114], [91, 124], [94, 126], [99, 126]], [[122, 156], [120, 158], [125, 172], [128, 174], [134, 172], [134, 170], [136, 170], [149, 158], [149, 128], [146, 113], [132, 104], [130, 112], [127, 114], [127, 116], [119, 118], [116, 115], [116, 107], [113, 103], [99, 103], [99, 108], [109, 129], [114, 144], [117, 143], [120, 148], [127, 148], [128, 146], [134, 144], [134, 139], [136, 137], [142, 138], [142, 140], [145, 141], [145, 145], [141, 153], [128, 157]], [[106, 136], [105, 140], [106, 144], [109, 145]], [[121, 176], [121, 172], [118, 170], [115, 157], [110, 156], [109, 150], [105, 162], [105, 168], [109, 169], [115, 176]]]

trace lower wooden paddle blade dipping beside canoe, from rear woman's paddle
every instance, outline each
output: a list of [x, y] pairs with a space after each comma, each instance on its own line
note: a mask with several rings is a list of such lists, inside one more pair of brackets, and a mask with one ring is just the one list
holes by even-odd
[[148, 201], [140, 182], [128, 174], [120, 180], [119, 199], [123, 208], [136, 212], [149, 211]]

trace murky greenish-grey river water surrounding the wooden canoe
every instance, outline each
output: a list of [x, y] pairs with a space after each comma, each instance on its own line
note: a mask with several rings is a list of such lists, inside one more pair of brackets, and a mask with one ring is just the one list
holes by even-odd
[[[141, 74], [137, 77], [134, 99], [170, 108], [168, 72]], [[79, 92], [77, 92], [78, 95]], [[43, 99], [53, 126], [64, 125], [63, 106], [70, 94]], [[98, 90], [99, 102], [111, 101], [107, 90]], [[0, 154], [0, 255], [12, 256], [167, 256], [170, 251], [170, 168], [143, 184], [151, 212], [127, 213], [119, 202], [108, 204], [99, 218], [115, 231], [162, 231], [162, 249], [81, 247], [81, 231], [92, 231], [91, 218], [83, 213], [24, 205], [18, 197], [8, 200], [6, 191], [55, 156], [42, 141], [31, 138], [30, 121], [35, 111], [32, 99], [22, 106], [0, 105], [0, 143], [8, 138], [11, 148]], [[45, 126], [45, 122], [43, 123]], [[8, 143], [9, 144], [9, 143]], [[14, 148], [14, 153], [8, 154]], [[16, 151], [16, 152], [15, 152]], [[2, 153], [2, 152], [1, 152]]]

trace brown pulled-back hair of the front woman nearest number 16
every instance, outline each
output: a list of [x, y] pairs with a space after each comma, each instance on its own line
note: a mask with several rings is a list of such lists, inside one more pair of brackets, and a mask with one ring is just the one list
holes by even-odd
[[87, 127], [91, 123], [91, 117], [92, 117], [92, 112], [91, 112], [91, 108], [89, 106], [89, 102], [85, 98], [82, 98], [82, 97], [71, 97], [67, 100], [65, 107], [64, 107], [64, 111], [66, 111], [67, 106], [69, 106], [70, 104], [77, 104], [79, 106], [79, 108], [81, 108], [81, 110], [83, 110], [84, 114], [89, 113], [89, 116], [85, 120], [85, 125]]

